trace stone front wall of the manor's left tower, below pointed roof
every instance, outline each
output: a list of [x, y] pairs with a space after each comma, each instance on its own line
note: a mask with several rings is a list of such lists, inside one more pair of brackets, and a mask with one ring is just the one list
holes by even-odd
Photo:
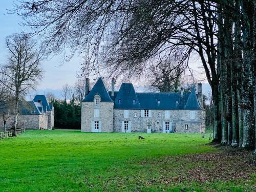
[[[101, 132], [113, 132], [113, 102], [82, 102], [81, 131], [92, 132], [92, 121], [101, 122]], [[99, 110], [99, 117], [94, 117], [94, 110]]]

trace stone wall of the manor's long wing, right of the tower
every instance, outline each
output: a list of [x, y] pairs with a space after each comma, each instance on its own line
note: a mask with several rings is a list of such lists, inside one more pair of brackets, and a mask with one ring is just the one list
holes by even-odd
[[[134, 116], [135, 112], [137, 117]], [[160, 117], [158, 117], [158, 113], [160, 113]], [[131, 132], [146, 132], [147, 126], [150, 125], [152, 133], [162, 133], [165, 121], [172, 122], [172, 130], [180, 133], [185, 133], [185, 131], [180, 128], [180, 125], [177, 130], [178, 122], [189, 122], [191, 124], [190, 131], [193, 133], [201, 133], [205, 128], [203, 110], [195, 111], [195, 119], [190, 119], [189, 110], [170, 110], [170, 116], [166, 119], [165, 110], [152, 110], [152, 117], [141, 117], [141, 110], [129, 110], [129, 117], [124, 118], [124, 110], [114, 109], [114, 132], [121, 132], [122, 121], [131, 122]]]

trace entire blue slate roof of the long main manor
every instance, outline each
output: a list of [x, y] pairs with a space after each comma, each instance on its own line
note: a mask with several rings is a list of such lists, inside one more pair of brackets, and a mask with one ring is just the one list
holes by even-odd
[[[200, 106], [195, 88], [189, 93], [136, 93], [132, 83], [122, 83], [114, 96], [107, 92], [103, 80], [99, 78], [93, 89], [83, 101], [93, 101], [99, 94], [101, 101], [114, 102], [114, 109], [147, 109], [147, 110], [203, 110]], [[120, 103], [119, 103], [120, 100]]]

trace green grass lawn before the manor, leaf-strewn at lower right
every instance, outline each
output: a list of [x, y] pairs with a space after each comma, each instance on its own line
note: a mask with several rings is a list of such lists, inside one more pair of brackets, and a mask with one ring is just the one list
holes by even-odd
[[251, 152], [208, 143], [200, 134], [26, 131], [0, 141], [0, 191], [256, 189]]

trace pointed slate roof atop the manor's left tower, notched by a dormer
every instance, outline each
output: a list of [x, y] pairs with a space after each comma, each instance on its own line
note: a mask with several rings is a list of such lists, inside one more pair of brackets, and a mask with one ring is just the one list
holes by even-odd
[[100, 100], [102, 102], [113, 102], [108, 91], [106, 91], [104, 82], [100, 77], [98, 81], [93, 86], [93, 89], [89, 92], [89, 94], [82, 101], [93, 101], [94, 95], [100, 95]]

